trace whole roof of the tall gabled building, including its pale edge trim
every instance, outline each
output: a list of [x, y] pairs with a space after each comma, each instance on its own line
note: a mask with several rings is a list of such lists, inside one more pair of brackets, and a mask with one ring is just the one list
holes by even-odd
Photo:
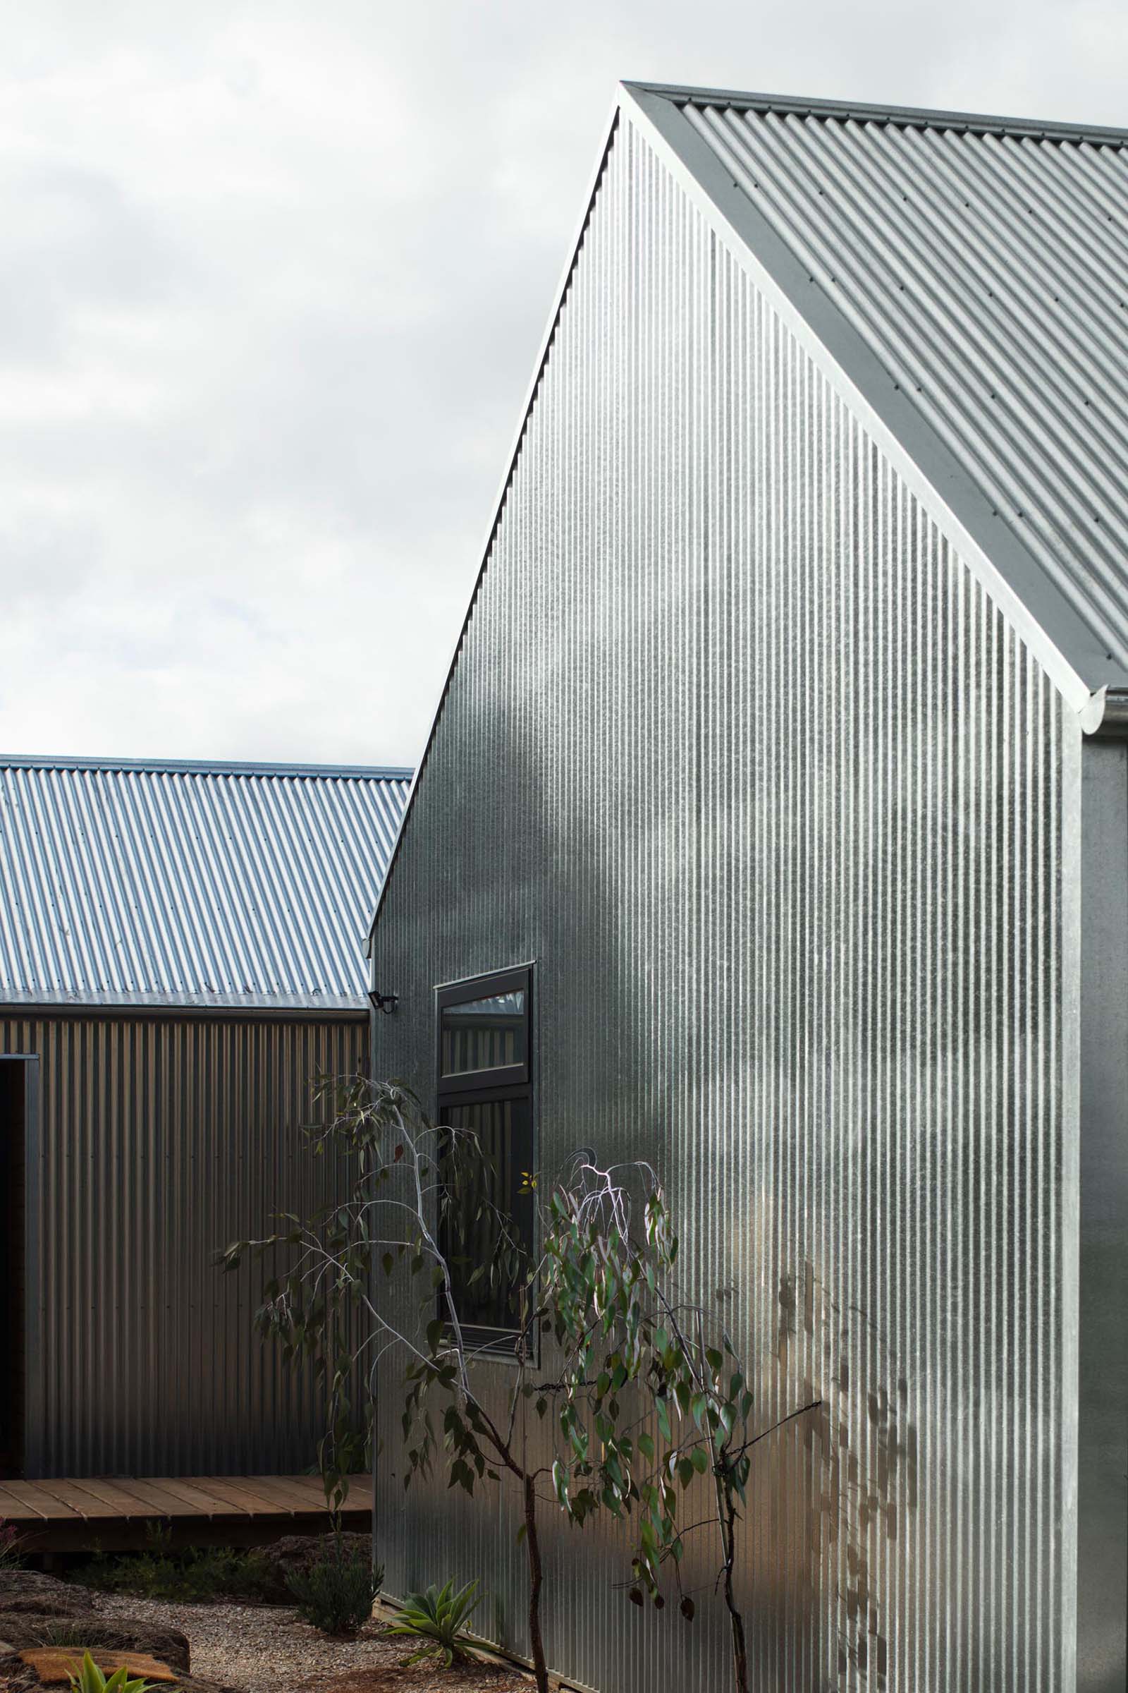
[[1128, 726], [1121, 129], [622, 83], [462, 633], [621, 122], [944, 523], [1082, 726]]

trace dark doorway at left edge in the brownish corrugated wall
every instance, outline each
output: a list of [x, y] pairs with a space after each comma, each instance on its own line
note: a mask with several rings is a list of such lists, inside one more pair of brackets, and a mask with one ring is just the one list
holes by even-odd
[[0, 1476], [24, 1475], [29, 1058], [0, 1058]]

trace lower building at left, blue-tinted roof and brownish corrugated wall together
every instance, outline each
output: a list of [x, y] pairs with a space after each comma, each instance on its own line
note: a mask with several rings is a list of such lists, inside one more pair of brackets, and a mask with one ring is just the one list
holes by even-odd
[[311, 1212], [408, 770], [0, 758], [0, 1476], [303, 1471], [216, 1248]]

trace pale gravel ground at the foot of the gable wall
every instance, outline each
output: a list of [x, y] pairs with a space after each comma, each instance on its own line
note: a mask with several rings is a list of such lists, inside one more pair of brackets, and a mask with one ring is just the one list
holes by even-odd
[[105, 1617], [135, 1617], [181, 1629], [191, 1642], [193, 1674], [238, 1688], [238, 1693], [528, 1693], [516, 1669], [477, 1664], [443, 1669], [401, 1668], [406, 1641], [382, 1639], [381, 1622], [367, 1624], [355, 1641], [331, 1641], [279, 1605], [179, 1605], [91, 1593]]

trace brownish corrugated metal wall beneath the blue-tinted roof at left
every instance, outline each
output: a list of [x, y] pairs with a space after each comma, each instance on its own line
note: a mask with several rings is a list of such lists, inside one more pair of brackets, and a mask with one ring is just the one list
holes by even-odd
[[320, 1402], [252, 1329], [262, 1271], [211, 1255], [331, 1197], [311, 1084], [365, 1050], [355, 1021], [0, 1012], [0, 1051], [41, 1060], [29, 1473], [309, 1468]]

